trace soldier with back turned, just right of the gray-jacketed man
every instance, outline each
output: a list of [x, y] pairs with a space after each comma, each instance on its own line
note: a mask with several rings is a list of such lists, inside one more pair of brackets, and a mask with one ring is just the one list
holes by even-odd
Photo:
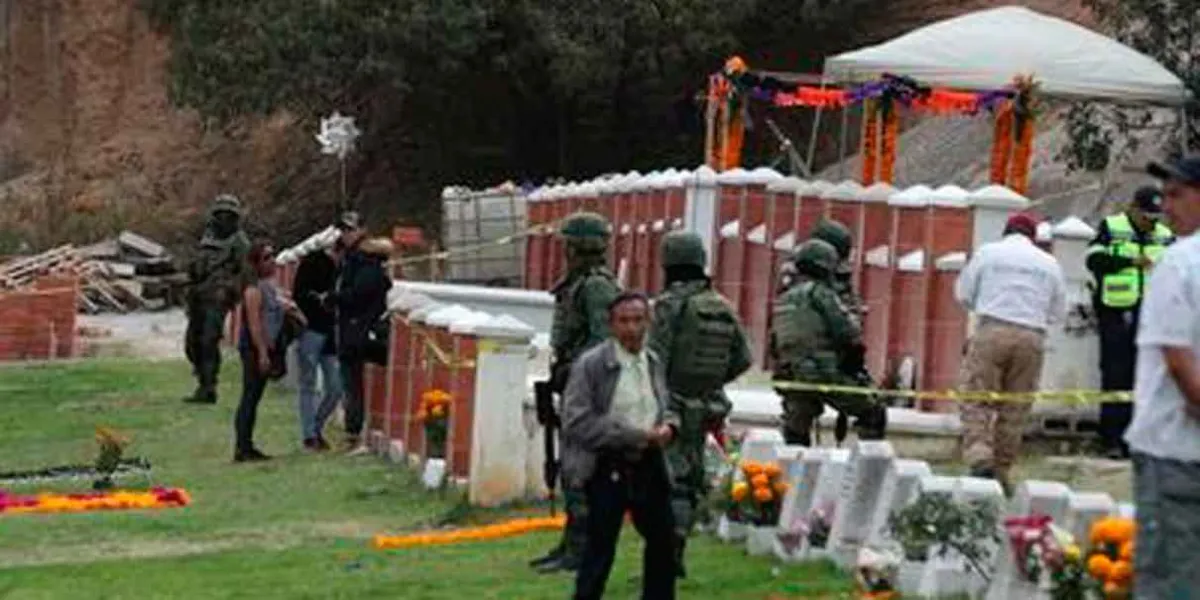
[[680, 427], [667, 448], [671, 509], [676, 521], [676, 560], [680, 577], [696, 508], [708, 494], [704, 437], [720, 431], [732, 403], [725, 384], [750, 368], [750, 347], [728, 302], [704, 275], [704, 245], [690, 232], [662, 240], [666, 290], [654, 301], [649, 348], [666, 365], [672, 409]]

